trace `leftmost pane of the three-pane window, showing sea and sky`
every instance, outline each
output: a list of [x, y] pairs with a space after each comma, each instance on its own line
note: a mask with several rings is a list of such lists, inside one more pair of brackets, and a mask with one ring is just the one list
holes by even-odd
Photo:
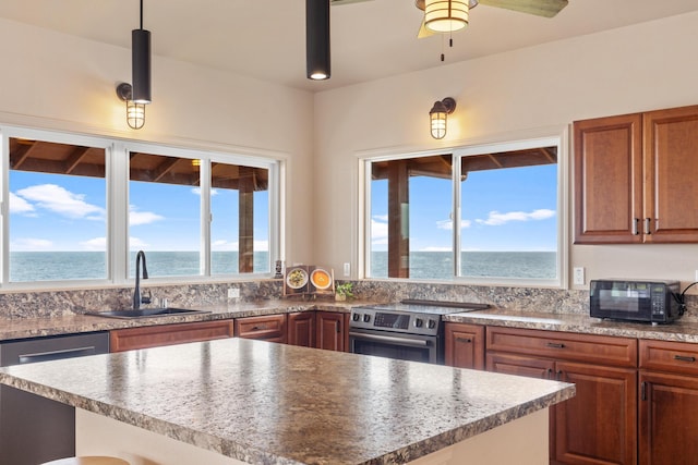
[[9, 280], [107, 279], [106, 149], [11, 137]]

